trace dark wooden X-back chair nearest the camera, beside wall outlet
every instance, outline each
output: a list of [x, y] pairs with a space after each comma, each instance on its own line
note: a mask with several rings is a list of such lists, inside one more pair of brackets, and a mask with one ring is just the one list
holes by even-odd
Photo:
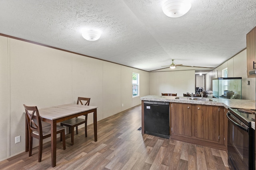
[[[26, 118], [28, 123], [28, 133], [29, 133], [29, 156], [32, 155], [32, 144], [33, 137], [39, 140], [39, 153], [38, 153], [38, 162], [42, 160], [42, 150], [43, 150], [43, 139], [46, 139], [51, 136], [51, 125], [42, 127], [41, 118], [39, 111], [36, 106], [26, 106], [23, 105], [26, 111]], [[62, 135], [62, 145], [63, 150], [66, 149], [65, 143], [65, 128], [57, 125], [57, 134], [61, 133]]]

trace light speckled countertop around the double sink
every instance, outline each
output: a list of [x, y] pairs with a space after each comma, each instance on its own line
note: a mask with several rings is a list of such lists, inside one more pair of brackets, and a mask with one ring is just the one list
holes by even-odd
[[[239, 108], [239, 109], [255, 109], [255, 100], [241, 100], [241, 99], [219, 99], [210, 98], [216, 102], [205, 102], [197, 100], [181, 100], [174, 99], [179, 96], [158, 96], [158, 95], [148, 95], [140, 98], [140, 100], [147, 101], [159, 101], [159, 102], [174, 102], [174, 103], [189, 103], [189, 104], [204, 104], [212, 106], [224, 106], [226, 108]], [[183, 96], [180, 96], [183, 97]]]

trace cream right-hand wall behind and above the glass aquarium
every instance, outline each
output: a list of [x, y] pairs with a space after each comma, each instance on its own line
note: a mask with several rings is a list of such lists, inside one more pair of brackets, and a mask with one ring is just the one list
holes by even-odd
[[[228, 77], [242, 77], [242, 99], [255, 100], [256, 78], [247, 78], [246, 58], [245, 49], [206, 74], [206, 82], [212, 81], [216, 70], [218, 70], [218, 77], [222, 77], [222, 69], [228, 68]], [[250, 81], [250, 85], [247, 85], [247, 81]], [[212, 90], [212, 86], [206, 86], [206, 90]]]

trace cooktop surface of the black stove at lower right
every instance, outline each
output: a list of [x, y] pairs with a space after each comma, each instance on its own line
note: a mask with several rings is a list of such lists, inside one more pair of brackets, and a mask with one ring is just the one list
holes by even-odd
[[253, 109], [237, 109], [228, 107], [230, 113], [236, 116], [245, 125], [251, 127], [251, 122], [255, 121], [256, 110]]

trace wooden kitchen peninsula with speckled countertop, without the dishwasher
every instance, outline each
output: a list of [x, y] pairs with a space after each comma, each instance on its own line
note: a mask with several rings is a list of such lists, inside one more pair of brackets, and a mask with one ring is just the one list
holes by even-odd
[[210, 98], [214, 102], [208, 102], [175, 98], [177, 97], [157, 95], [141, 98], [142, 134], [144, 101], [169, 102], [170, 139], [227, 150], [227, 108], [255, 109], [254, 100]]

